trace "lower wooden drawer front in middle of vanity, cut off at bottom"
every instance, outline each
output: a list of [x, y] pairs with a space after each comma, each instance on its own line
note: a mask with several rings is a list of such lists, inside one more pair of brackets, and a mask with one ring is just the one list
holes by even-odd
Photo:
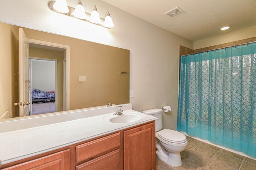
[[76, 170], [120, 170], [120, 149], [76, 166]]

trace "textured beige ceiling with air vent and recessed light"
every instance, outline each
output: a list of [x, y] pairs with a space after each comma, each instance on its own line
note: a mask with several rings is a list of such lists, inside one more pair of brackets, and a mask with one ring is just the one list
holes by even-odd
[[[102, 0], [191, 41], [256, 25], [256, 0]], [[171, 18], [165, 13], [185, 12]], [[220, 28], [231, 28], [220, 31]]]

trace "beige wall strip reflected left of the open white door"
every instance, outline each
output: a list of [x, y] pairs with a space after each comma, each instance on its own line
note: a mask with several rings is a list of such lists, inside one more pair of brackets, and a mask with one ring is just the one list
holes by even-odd
[[[18, 84], [15, 85], [15, 80], [18, 80], [17, 64], [12, 67], [11, 64], [18, 58], [18, 32], [16, 27], [5, 23], [0, 23], [0, 118], [8, 118], [12, 115], [12, 103], [14, 102], [14, 96], [12, 91], [18, 88]], [[14, 75], [15, 76], [12, 76]], [[14, 89], [14, 86], [15, 89]], [[16, 101], [18, 102], [18, 101]], [[19, 108], [18, 108], [19, 109]], [[9, 111], [10, 115], [3, 115]], [[15, 111], [15, 110], [14, 110]], [[14, 113], [14, 116], [16, 114]]]

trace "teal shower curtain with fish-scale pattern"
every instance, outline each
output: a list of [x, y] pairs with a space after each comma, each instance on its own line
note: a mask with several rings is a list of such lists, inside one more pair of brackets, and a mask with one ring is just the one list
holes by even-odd
[[180, 63], [177, 130], [256, 157], [256, 43]]

